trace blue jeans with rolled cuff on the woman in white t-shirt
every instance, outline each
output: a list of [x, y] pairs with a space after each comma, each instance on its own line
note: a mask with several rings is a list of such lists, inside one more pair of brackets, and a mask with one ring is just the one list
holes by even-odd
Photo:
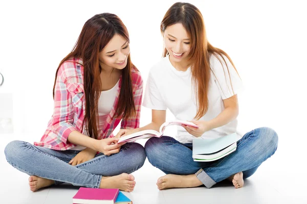
[[274, 130], [260, 127], [248, 132], [237, 142], [230, 155], [213, 162], [194, 162], [192, 143], [180, 143], [172, 137], [152, 137], [145, 144], [149, 162], [166, 174], [196, 174], [211, 188], [229, 176], [243, 171], [244, 179], [251, 176], [260, 164], [277, 149], [278, 137]]

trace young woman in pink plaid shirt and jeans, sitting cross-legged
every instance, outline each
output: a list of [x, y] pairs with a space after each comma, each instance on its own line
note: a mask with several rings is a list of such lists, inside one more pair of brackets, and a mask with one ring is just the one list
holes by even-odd
[[31, 191], [64, 182], [134, 190], [129, 173], [144, 164], [144, 148], [117, 144], [128, 129], [139, 127], [143, 81], [129, 51], [118, 16], [103, 13], [85, 22], [56, 71], [54, 113], [45, 134], [34, 145], [12, 141], [5, 148], [7, 161], [30, 175]]

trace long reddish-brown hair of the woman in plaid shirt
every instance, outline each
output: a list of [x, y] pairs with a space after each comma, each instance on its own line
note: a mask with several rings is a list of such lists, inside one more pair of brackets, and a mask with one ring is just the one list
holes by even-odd
[[[71, 53], [60, 62], [55, 74], [53, 98], [57, 72], [60, 66], [71, 58], [82, 59], [82, 65], [84, 67], [83, 86], [85, 96], [85, 116], [83, 124], [86, 122], [87, 133], [90, 137], [95, 139], [98, 138], [98, 99], [102, 89], [100, 80], [101, 66], [99, 64], [99, 53], [115, 34], [122, 36], [129, 42], [127, 28], [117, 15], [102, 13], [93, 16], [83, 25], [82, 31], [75, 46], [73, 47]], [[134, 115], [136, 112], [133, 98], [131, 69], [136, 68], [130, 61], [129, 54], [127, 65], [122, 70], [121, 89], [114, 116], [115, 118], [120, 117], [121, 115], [123, 118], [128, 118], [131, 115]]]

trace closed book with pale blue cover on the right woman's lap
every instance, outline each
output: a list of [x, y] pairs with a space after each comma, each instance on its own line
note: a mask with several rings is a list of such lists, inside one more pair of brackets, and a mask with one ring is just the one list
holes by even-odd
[[211, 162], [236, 150], [236, 142], [241, 139], [236, 133], [216, 139], [193, 139], [192, 158], [195, 162]]

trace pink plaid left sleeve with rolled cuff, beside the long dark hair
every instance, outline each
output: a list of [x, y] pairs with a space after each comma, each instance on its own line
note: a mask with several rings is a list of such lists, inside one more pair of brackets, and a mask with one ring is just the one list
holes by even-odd
[[57, 135], [58, 139], [67, 144], [67, 139], [76, 128], [73, 125], [73, 105], [72, 96], [68, 89], [69, 81], [72, 78], [70, 68], [71, 63], [64, 62], [58, 70], [54, 91], [54, 112], [52, 116], [51, 131]]

